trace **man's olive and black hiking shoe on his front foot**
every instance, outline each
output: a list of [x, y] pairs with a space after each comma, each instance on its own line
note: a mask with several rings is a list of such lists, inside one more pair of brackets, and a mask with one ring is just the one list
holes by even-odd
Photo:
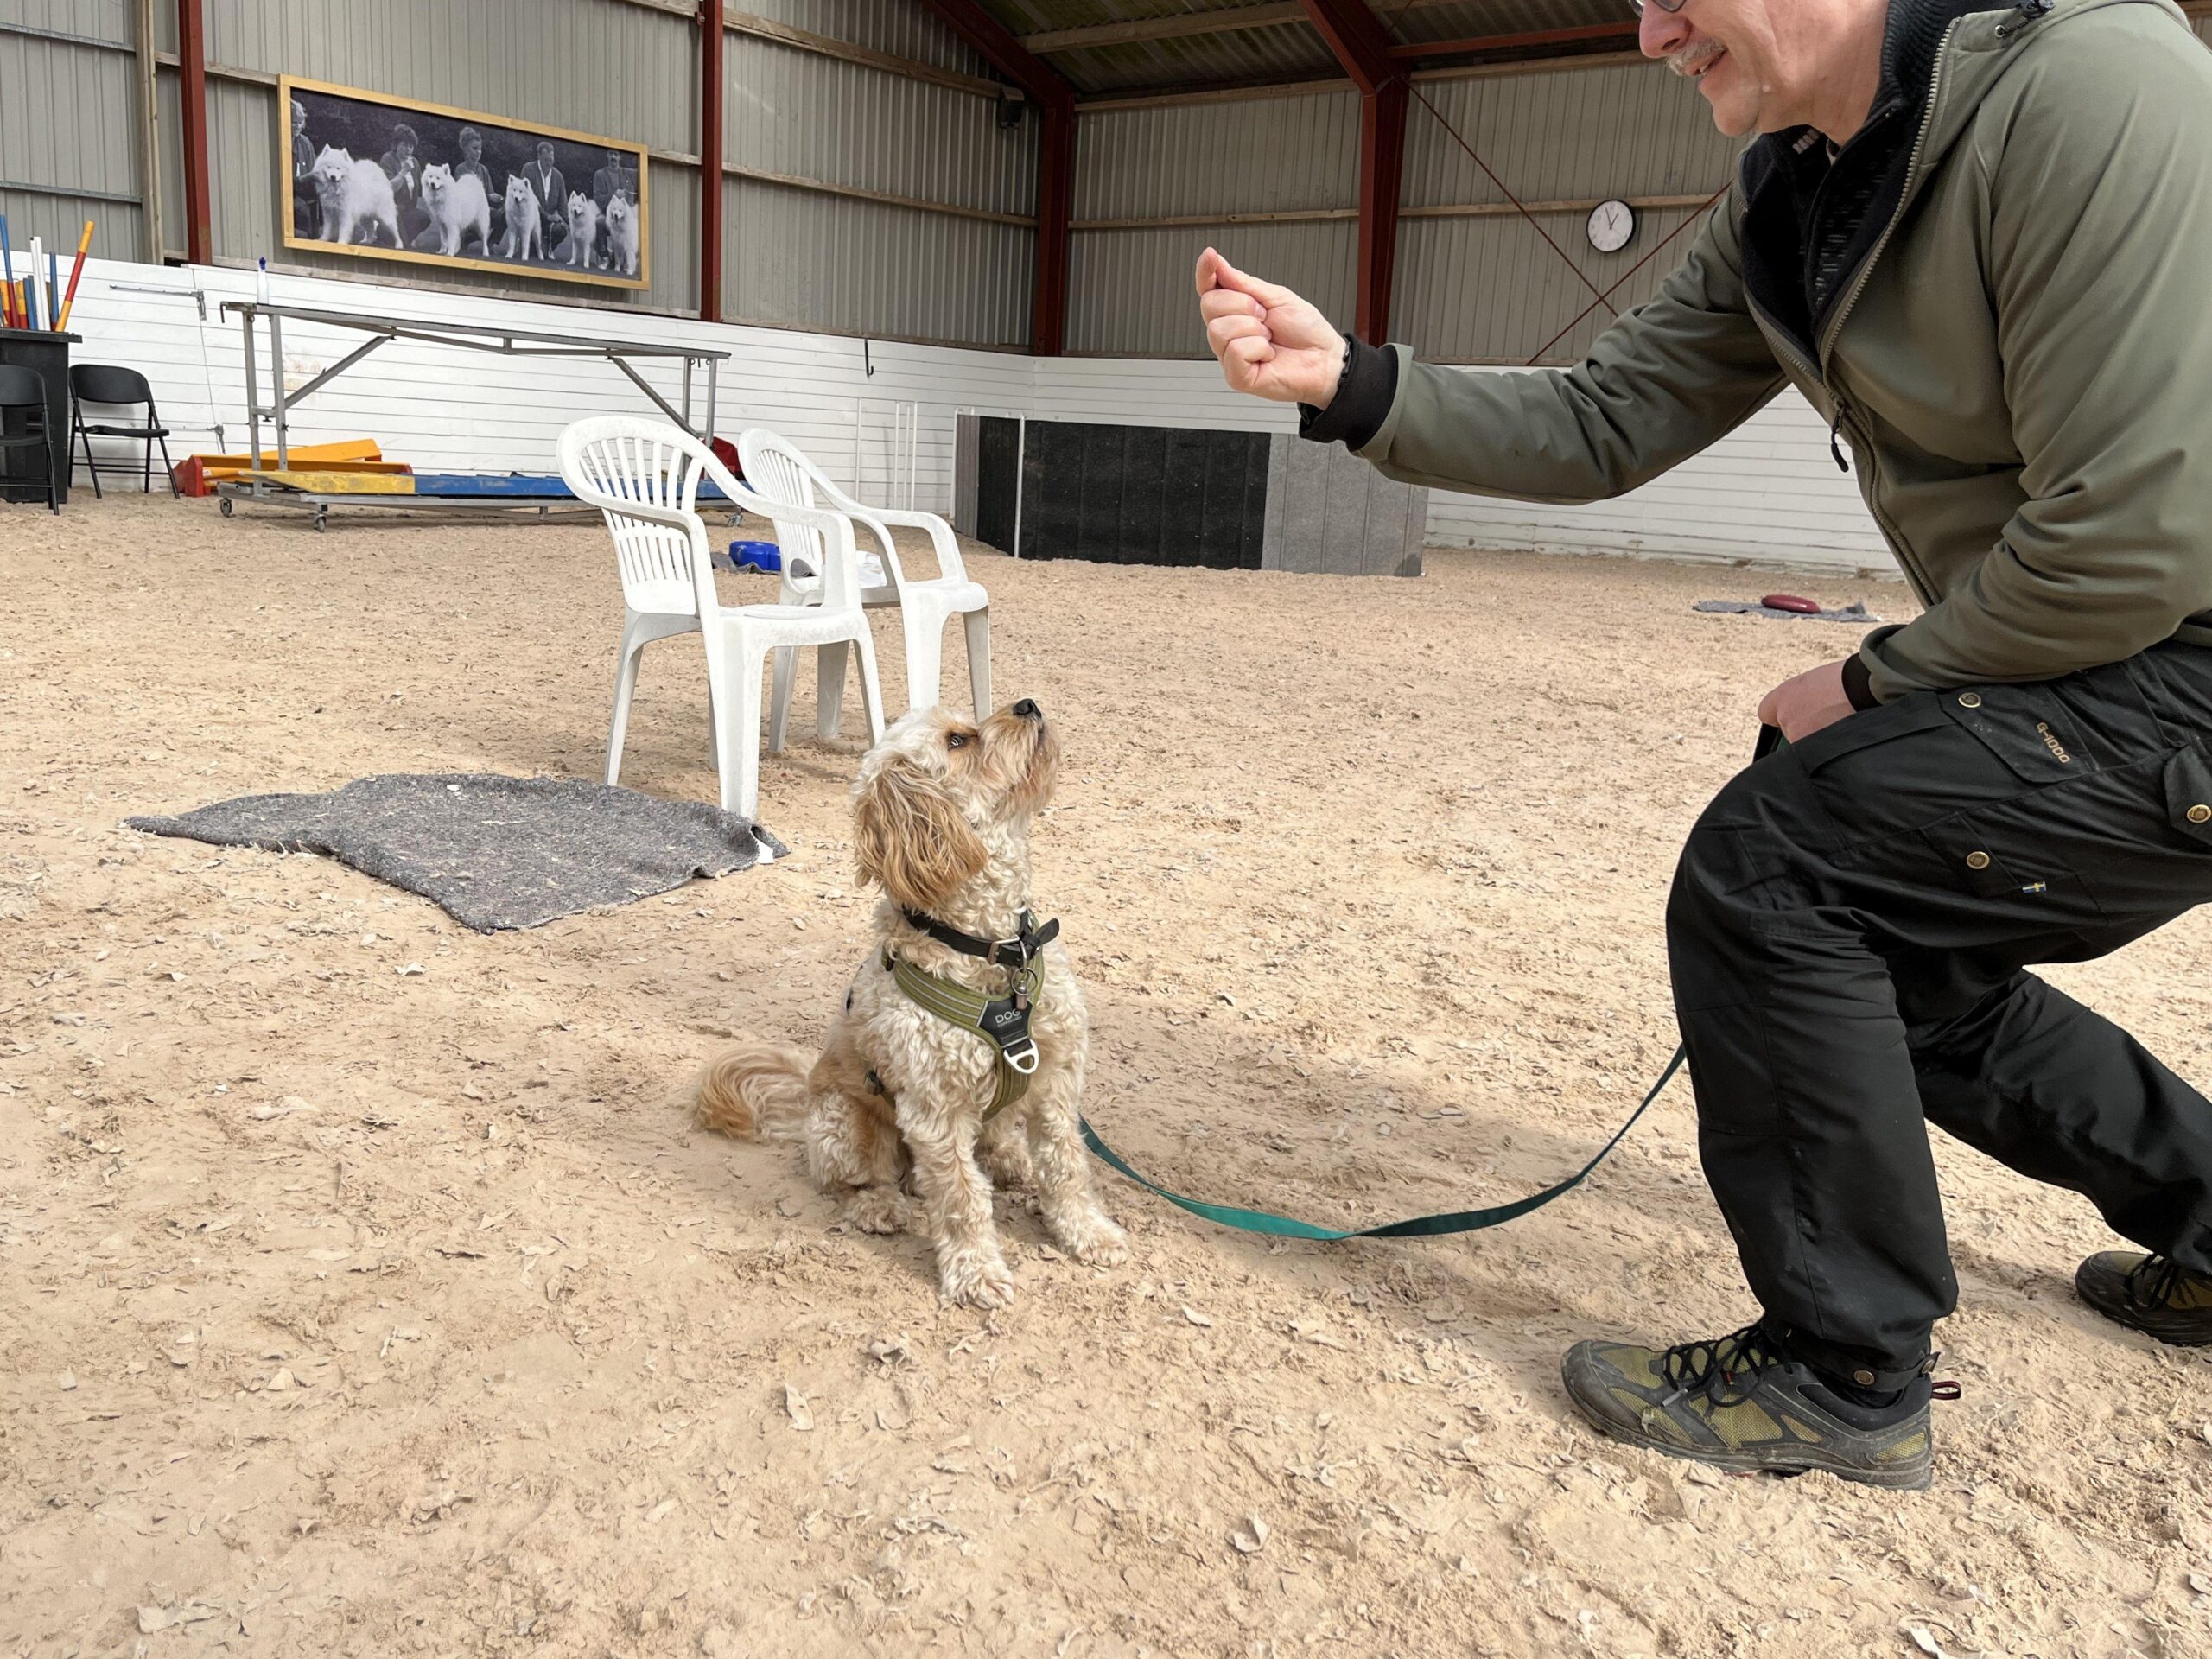
[[1756, 1325], [1668, 1349], [1575, 1343], [1559, 1376], [1599, 1433], [1670, 1458], [1781, 1475], [1825, 1469], [1869, 1486], [1920, 1489], [1933, 1473], [1924, 1376], [1889, 1405], [1860, 1405]]

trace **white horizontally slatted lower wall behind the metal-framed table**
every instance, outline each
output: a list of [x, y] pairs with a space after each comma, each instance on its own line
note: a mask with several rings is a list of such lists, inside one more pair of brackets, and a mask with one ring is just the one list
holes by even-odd
[[[1203, 363], [1031, 358], [799, 330], [710, 325], [628, 312], [436, 294], [420, 288], [272, 279], [274, 296], [305, 305], [641, 341], [695, 341], [737, 356], [721, 374], [723, 434], [770, 425], [790, 434], [863, 498], [902, 500], [894, 453], [900, 405], [920, 407], [916, 504], [951, 507], [953, 411], [1152, 427], [1296, 431], [1294, 407], [1241, 398]], [[144, 369], [177, 429], [177, 453], [243, 447], [243, 352], [223, 299], [252, 294], [241, 270], [95, 261], [77, 296], [84, 356]], [[206, 319], [201, 319], [201, 307]], [[358, 336], [292, 327], [285, 374], [299, 385]], [[874, 369], [874, 374], [869, 372]], [[263, 365], [265, 372], [265, 365]], [[1491, 369], [1469, 369], [1489, 374]], [[646, 367], [675, 400], [677, 372]], [[303, 403], [299, 442], [372, 436], [394, 460], [425, 469], [544, 471], [560, 429], [584, 414], [650, 405], [604, 363], [520, 363], [434, 345], [394, 343]], [[1827, 458], [1827, 434], [1796, 394], [1747, 420], [1666, 478], [1593, 507], [1535, 507], [1431, 493], [1429, 540], [1546, 553], [1759, 560], [1820, 568], [1891, 571], [1858, 489]]]

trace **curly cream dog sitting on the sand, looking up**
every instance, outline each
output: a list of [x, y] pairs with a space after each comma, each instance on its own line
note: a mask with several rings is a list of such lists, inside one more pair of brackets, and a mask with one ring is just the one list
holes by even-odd
[[1000, 1075], [991, 1040], [920, 1006], [887, 967], [905, 960], [969, 991], [1009, 995], [1009, 967], [953, 949], [911, 918], [975, 942], [1022, 933], [1029, 818], [1051, 799], [1057, 765], [1060, 739], [1026, 699], [982, 723], [927, 708], [891, 726], [854, 785], [860, 876], [883, 885], [876, 938], [821, 1057], [810, 1066], [785, 1048], [743, 1044], [708, 1062], [692, 1097], [699, 1121], [726, 1135], [801, 1135], [814, 1183], [849, 1194], [852, 1225], [898, 1232], [918, 1212], [945, 1298], [975, 1307], [1013, 1298], [984, 1170], [1002, 1183], [1033, 1175], [1046, 1230], [1077, 1261], [1104, 1267], [1128, 1256], [1091, 1188], [1077, 1130], [1091, 1020], [1066, 951], [1046, 942], [1031, 964], [1037, 1068], [1026, 1095], [989, 1124]]

